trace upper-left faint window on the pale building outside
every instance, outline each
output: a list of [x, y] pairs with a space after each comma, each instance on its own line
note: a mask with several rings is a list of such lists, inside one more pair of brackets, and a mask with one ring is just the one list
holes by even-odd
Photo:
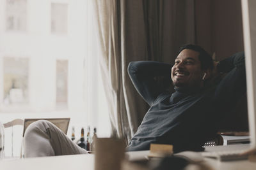
[[26, 31], [27, 1], [6, 0], [6, 30]]

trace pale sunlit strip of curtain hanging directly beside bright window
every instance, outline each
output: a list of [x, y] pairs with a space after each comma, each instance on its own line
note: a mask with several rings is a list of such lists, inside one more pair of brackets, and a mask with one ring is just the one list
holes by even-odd
[[120, 41], [118, 37], [118, 11], [116, 0], [94, 1], [97, 14], [97, 27], [99, 28], [98, 38], [100, 41], [100, 66], [102, 69], [102, 78], [108, 99], [108, 106], [111, 117], [112, 133], [118, 136], [122, 135], [122, 73], [120, 67], [122, 60], [120, 58]]

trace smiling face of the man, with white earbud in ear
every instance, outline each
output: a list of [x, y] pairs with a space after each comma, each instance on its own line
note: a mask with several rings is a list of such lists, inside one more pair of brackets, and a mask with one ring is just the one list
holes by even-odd
[[204, 71], [198, 59], [199, 52], [185, 49], [179, 53], [172, 67], [172, 81], [175, 87], [202, 87]]

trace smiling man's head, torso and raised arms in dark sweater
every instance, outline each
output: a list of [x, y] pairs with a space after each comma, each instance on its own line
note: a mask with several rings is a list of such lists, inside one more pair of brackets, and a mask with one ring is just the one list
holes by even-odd
[[[174, 152], [202, 150], [218, 124], [246, 91], [244, 53], [221, 62], [197, 45], [181, 46], [173, 66], [161, 62], [131, 62], [134, 87], [150, 105], [127, 150], [148, 150], [150, 143], [173, 145]], [[221, 78], [221, 73], [227, 73]], [[173, 83], [174, 92], [165, 90]], [[170, 78], [171, 77], [171, 78]]]

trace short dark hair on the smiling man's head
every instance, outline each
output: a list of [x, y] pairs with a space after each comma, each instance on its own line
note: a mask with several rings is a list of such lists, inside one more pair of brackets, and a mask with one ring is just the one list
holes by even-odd
[[209, 55], [209, 53], [207, 53], [204, 50], [204, 48], [202, 48], [201, 46], [192, 45], [192, 44], [183, 45], [183, 46], [180, 46], [178, 55], [180, 52], [182, 52], [182, 50], [185, 50], [185, 49], [190, 49], [190, 50], [194, 50], [195, 52], [199, 52], [198, 59], [201, 62], [202, 69], [213, 69], [212, 57], [211, 55]]

